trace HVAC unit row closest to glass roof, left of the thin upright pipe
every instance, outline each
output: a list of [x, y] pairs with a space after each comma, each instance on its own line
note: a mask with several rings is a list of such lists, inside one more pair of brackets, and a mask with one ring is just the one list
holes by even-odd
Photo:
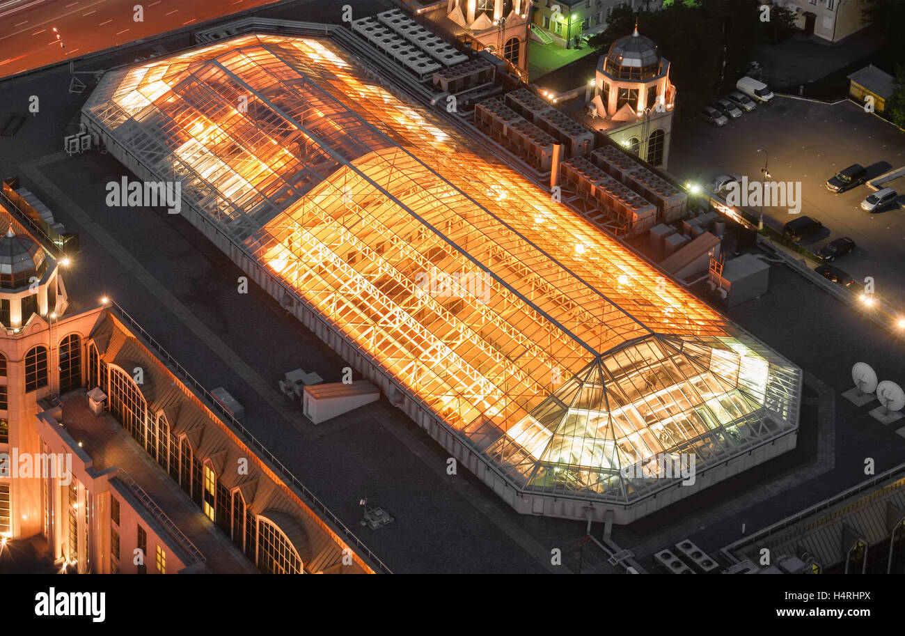
[[510, 149], [541, 173], [550, 171], [557, 140], [493, 97], [475, 104], [474, 123], [485, 135]]

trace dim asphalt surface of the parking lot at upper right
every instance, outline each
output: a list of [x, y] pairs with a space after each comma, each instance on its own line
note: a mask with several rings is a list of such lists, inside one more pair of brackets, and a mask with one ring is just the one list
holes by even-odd
[[[699, 184], [722, 173], [759, 181], [765, 153], [758, 149], [767, 150], [771, 180], [801, 182], [801, 214], [824, 225], [802, 244], [816, 252], [836, 237], [851, 237], [857, 247], [834, 265], [856, 281], [872, 276], [876, 294], [905, 306], [905, 179], [883, 184], [897, 188], [899, 207], [875, 214], [860, 208], [872, 188], [834, 194], [825, 187], [828, 178], [853, 163], [865, 167], [869, 179], [905, 165], [905, 133], [851, 101], [826, 104], [776, 96], [722, 128], [695, 120], [676, 130], [670, 169]], [[787, 207], [764, 208], [768, 226], [779, 229], [792, 218]]]

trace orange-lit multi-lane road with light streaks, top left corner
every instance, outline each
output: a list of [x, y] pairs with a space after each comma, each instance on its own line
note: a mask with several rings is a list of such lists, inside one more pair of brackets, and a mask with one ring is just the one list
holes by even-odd
[[[2, 5], [0, 78], [271, 4], [274, 0], [33, 0]], [[346, 4], [362, 14], [392, 5], [375, 0], [313, 0], [294, 3], [304, 7], [296, 19], [339, 22]], [[135, 5], [143, 6], [142, 22], [135, 21]]]

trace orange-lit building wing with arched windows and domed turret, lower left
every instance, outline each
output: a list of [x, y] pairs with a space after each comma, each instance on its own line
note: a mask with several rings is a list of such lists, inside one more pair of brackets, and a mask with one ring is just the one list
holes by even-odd
[[65, 313], [69, 259], [5, 207], [0, 225], [7, 554], [42, 544], [47, 563], [73, 573], [373, 572], [109, 301]]

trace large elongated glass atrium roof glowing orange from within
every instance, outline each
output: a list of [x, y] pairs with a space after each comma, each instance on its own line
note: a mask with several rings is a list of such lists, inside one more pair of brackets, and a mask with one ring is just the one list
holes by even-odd
[[800, 371], [329, 38], [110, 72], [83, 110], [515, 487], [630, 502], [797, 428]]

